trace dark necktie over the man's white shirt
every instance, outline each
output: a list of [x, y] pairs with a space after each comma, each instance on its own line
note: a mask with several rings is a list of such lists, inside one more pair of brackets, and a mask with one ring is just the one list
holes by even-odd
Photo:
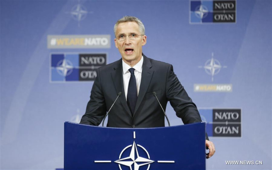
[[134, 114], [136, 101], [137, 101], [137, 85], [136, 85], [136, 77], [134, 75], [134, 68], [130, 68], [129, 71], [131, 72], [131, 78], [129, 82], [128, 88], [128, 95], [127, 95], [127, 102], [130, 107], [132, 115]]

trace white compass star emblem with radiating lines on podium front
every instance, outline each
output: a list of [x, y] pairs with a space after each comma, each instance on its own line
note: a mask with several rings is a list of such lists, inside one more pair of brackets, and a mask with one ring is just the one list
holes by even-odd
[[[136, 139], [136, 132], [134, 131], [134, 139]], [[143, 157], [139, 154], [138, 150], [142, 149], [147, 157]], [[123, 158], [124, 152], [129, 150], [130, 155], [128, 157]], [[150, 164], [154, 163], [155, 161], [150, 159], [150, 155], [148, 151], [141, 145], [136, 144], [135, 141], [133, 141], [132, 145], [129, 145], [125, 147], [120, 155], [119, 159], [114, 161], [115, 163], [119, 164], [119, 169], [122, 169], [122, 166], [129, 167], [130, 170], [141, 170], [140, 167], [144, 165], [148, 165], [146, 170], [149, 170]], [[175, 161], [157, 161], [158, 163], [175, 163]], [[94, 163], [111, 163], [111, 161], [94, 161]], [[143, 169], [142, 169], [143, 170]]]

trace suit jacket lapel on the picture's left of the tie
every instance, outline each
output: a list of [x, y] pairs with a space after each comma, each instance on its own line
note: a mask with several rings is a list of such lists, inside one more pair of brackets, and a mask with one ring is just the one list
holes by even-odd
[[125, 107], [126, 111], [129, 113], [129, 115], [132, 117], [132, 113], [127, 104], [126, 94], [124, 91], [122, 59], [119, 60], [118, 64], [114, 66], [113, 69], [114, 71], [112, 72], [112, 81], [114, 82], [116, 92], [117, 93], [119, 93], [120, 91], [122, 92], [120, 96], [120, 101], [122, 105]]

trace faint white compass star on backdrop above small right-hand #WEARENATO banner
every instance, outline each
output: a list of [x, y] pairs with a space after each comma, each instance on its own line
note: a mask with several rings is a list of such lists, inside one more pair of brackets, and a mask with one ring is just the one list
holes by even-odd
[[214, 76], [220, 72], [222, 67], [227, 68], [227, 66], [222, 66], [217, 59], [214, 59], [214, 53], [212, 53], [212, 58], [207, 60], [204, 66], [198, 66], [198, 68], [204, 68], [205, 72], [212, 76], [212, 82], [214, 81]]

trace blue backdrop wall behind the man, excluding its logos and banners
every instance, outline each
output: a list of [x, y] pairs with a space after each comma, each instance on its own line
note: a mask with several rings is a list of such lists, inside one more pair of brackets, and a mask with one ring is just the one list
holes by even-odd
[[[79, 121], [93, 82], [51, 82], [51, 54], [106, 53], [107, 63], [114, 62], [121, 56], [113, 26], [132, 15], [145, 25], [144, 54], [173, 64], [200, 111], [241, 110], [240, 136], [210, 137], [216, 154], [207, 169], [271, 170], [272, 1], [237, 0], [234, 23], [194, 23], [199, 13], [191, 5], [189, 0], [0, 0], [0, 169], [63, 168], [64, 122]], [[49, 35], [110, 35], [111, 45], [48, 48]], [[212, 66], [220, 69], [213, 73], [208, 66], [215, 59]], [[182, 124], [170, 104], [166, 112], [172, 125]]]

